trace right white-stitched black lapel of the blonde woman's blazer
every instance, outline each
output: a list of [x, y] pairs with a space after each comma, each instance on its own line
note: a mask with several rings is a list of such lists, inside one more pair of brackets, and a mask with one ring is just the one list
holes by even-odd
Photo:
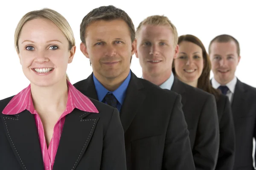
[[96, 113], [75, 109], [66, 116], [53, 169], [74, 170], [76, 168], [99, 120], [99, 118], [86, 119], [90, 114]]

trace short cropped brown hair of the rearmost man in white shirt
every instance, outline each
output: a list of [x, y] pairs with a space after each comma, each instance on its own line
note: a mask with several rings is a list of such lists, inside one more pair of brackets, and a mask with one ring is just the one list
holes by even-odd
[[208, 49], [209, 54], [211, 53], [211, 45], [213, 42], [230, 42], [230, 41], [234, 41], [236, 43], [237, 54], [238, 54], [238, 56], [240, 56], [239, 42], [236, 40], [236, 38], [232, 37], [231, 35], [227, 35], [227, 34], [218, 35], [217, 37], [212, 39], [212, 41], [210, 42], [210, 45], [209, 45], [209, 49]]

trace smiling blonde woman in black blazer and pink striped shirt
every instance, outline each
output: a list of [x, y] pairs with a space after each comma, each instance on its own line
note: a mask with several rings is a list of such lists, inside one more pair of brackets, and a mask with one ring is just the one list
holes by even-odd
[[51, 9], [25, 14], [15, 47], [30, 84], [0, 101], [0, 169], [125, 170], [118, 110], [66, 77], [76, 52], [67, 20]]

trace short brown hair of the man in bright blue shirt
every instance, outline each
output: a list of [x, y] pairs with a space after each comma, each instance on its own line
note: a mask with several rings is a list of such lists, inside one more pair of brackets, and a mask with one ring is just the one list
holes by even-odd
[[130, 34], [131, 42], [135, 40], [135, 28], [131, 18], [122, 9], [115, 6], [101, 6], [90, 11], [82, 20], [80, 24], [80, 39], [85, 44], [86, 28], [93, 22], [98, 20], [124, 20], [127, 23]]

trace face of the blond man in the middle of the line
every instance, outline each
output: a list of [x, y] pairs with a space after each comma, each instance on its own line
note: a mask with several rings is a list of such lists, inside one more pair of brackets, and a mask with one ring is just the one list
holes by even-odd
[[135, 54], [140, 60], [143, 74], [157, 77], [172, 72], [172, 62], [178, 51], [170, 26], [145, 25], [137, 33]]

